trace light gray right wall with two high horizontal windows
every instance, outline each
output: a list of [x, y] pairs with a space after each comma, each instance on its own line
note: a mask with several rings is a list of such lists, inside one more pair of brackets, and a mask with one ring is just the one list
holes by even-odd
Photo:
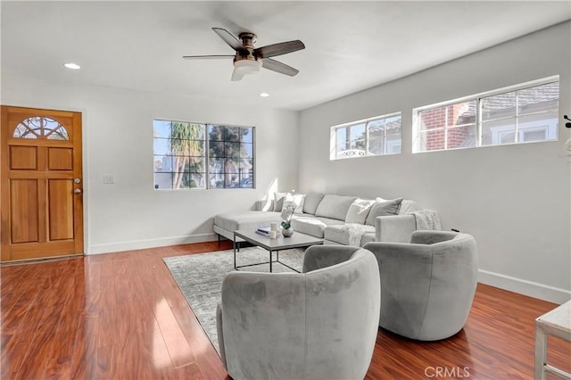
[[[480, 280], [563, 302], [571, 289], [571, 22], [303, 111], [300, 190], [404, 196], [476, 237]], [[390, 59], [390, 57], [385, 57]], [[412, 109], [559, 74], [559, 141], [411, 153]], [[402, 112], [402, 153], [329, 161], [331, 126]]]

